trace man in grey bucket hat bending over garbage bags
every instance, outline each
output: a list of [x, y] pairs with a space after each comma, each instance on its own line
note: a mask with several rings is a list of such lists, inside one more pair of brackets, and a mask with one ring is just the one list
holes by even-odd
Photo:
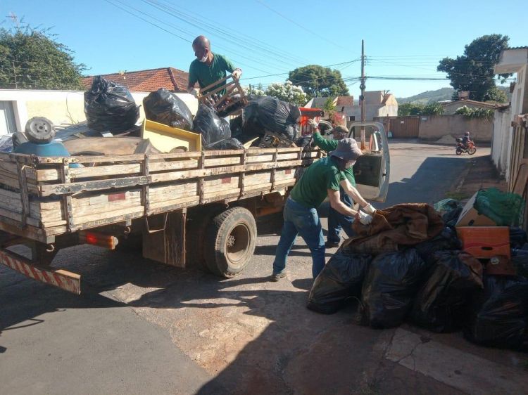
[[[325, 267], [325, 241], [322, 238], [321, 221], [317, 207], [329, 197], [330, 206], [337, 212], [353, 216], [362, 224], [370, 224], [372, 215], [351, 209], [341, 202], [339, 186], [358, 202], [365, 200], [356, 188], [351, 186], [343, 171], [356, 163], [358, 157], [363, 155], [358, 148], [358, 143], [353, 138], [344, 138], [337, 144], [337, 148], [304, 171], [301, 179], [297, 181], [284, 206], [284, 225], [280, 235], [279, 244], [273, 261], [273, 273], [270, 278], [278, 281], [286, 272], [286, 257], [294, 245], [298, 234], [310, 248], [312, 254], [312, 275], [316, 278]], [[365, 202], [366, 203], [366, 202]], [[374, 213], [372, 205], [366, 205], [368, 212]]]

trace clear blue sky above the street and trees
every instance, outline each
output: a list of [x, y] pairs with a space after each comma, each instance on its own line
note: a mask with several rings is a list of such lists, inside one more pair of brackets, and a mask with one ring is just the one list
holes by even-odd
[[[1, 26], [13, 27], [13, 13], [32, 27], [51, 27], [89, 75], [188, 70], [190, 41], [205, 34], [213, 52], [244, 70], [244, 84], [284, 82], [303, 65], [335, 65], [355, 98], [361, 39], [367, 76], [442, 78], [438, 61], [461, 55], [484, 34], [507, 34], [510, 46], [527, 46], [522, 10], [523, 0], [0, 0]], [[449, 81], [367, 79], [366, 86], [407, 97]]]

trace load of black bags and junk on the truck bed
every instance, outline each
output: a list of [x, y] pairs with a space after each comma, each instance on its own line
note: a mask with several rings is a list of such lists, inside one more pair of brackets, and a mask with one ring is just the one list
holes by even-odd
[[[301, 111], [298, 106], [271, 96], [249, 99], [248, 104], [239, 109], [240, 115], [231, 116], [230, 119], [222, 117], [225, 112], [218, 114], [214, 106], [207, 103], [200, 103], [193, 117], [187, 105], [176, 93], [167, 89], [151, 92], [143, 99], [146, 119], [151, 125], [152, 122], [156, 122], [158, 124], [156, 128], [166, 125], [177, 128], [177, 131], [163, 127], [154, 129], [154, 134], [159, 133], [162, 138], [156, 144], [152, 134], [149, 134], [149, 149], [151, 152], [200, 149], [198, 145], [189, 143], [193, 138], [201, 139], [201, 149], [205, 150], [237, 150], [250, 146], [295, 147], [310, 143], [309, 136], [300, 135], [298, 122]], [[94, 77], [92, 86], [84, 92], [84, 113], [87, 119], [85, 126], [77, 124], [57, 128], [55, 138], [60, 141], [82, 137], [146, 138], [145, 124], [143, 126], [138, 124], [139, 106], [130, 91], [125, 86], [108, 81], [102, 76]], [[0, 141], [1, 152], [11, 152], [13, 147], [27, 140], [26, 135], [27, 131], [15, 133], [13, 138], [4, 138]], [[170, 138], [171, 143], [168, 143], [166, 138]], [[107, 151], [108, 155], [116, 155], [114, 148], [105, 148], [106, 144], [102, 138], [100, 143], [93, 141], [92, 145], [95, 145], [96, 149], [90, 146], [87, 150], [82, 150], [82, 155], [106, 155]], [[132, 147], [132, 144], [130, 146]], [[127, 153], [127, 148], [121, 151]]]

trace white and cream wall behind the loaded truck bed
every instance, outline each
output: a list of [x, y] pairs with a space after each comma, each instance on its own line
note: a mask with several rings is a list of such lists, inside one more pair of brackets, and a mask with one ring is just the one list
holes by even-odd
[[[144, 119], [143, 98], [149, 92], [132, 92], [132, 97], [140, 105], [139, 120]], [[198, 101], [189, 93], [176, 93], [196, 114]], [[46, 117], [54, 124], [84, 122], [84, 91], [33, 91], [22, 89], [0, 89], [0, 101], [11, 101], [15, 113], [16, 129], [23, 131], [27, 119]]]

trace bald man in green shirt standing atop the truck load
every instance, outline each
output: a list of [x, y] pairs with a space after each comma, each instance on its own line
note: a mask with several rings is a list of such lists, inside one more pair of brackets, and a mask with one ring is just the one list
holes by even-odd
[[[235, 68], [229, 59], [210, 51], [210, 42], [207, 37], [196, 37], [192, 41], [192, 48], [196, 59], [191, 62], [189, 67], [189, 84], [187, 85], [187, 92], [192, 95], [198, 96], [198, 91], [194, 89], [196, 82], [198, 82], [200, 88], [203, 88], [224, 78], [227, 75], [226, 71], [232, 73], [236, 79], [241, 77], [242, 70]], [[218, 86], [215, 86], [215, 88], [218, 88]], [[220, 95], [224, 93], [225, 91], [219, 92]]]

